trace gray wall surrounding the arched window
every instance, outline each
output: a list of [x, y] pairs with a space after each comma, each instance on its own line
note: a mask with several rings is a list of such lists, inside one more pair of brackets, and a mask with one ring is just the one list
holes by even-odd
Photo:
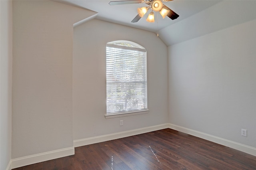
[[[147, 50], [149, 113], [105, 119], [106, 43], [136, 42]], [[168, 123], [167, 47], [156, 34], [100, 20], [74, 28], [74, 140]], [[119, 126], [123, 120], [124, 125]]]

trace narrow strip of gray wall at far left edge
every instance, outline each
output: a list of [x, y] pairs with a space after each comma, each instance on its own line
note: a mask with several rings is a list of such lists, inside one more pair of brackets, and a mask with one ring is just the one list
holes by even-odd
[[0, 1], [0, 169], [11, 160], [12, 143], [12, 2]]

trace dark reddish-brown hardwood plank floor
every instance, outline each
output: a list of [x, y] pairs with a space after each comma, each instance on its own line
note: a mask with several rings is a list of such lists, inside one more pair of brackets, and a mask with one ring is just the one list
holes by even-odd
[[256, 156], [172, 129], [75, 148], [14, 170], [256, 170]]

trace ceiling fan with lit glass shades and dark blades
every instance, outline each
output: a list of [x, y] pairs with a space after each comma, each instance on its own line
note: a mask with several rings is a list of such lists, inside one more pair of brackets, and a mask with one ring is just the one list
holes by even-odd
[[168, 2], [172, 0], [120, 0], [120, 1], [110, 1], [110, 5], [122, 5], [122, 4], [142, 4], [145, 3], [148, 6], [147, 7], [142, 7], [138, 8], [138, 15], [132, 20], [132, 22], [138, 22], [140, 18], [148, 12], [148, 10], [151, 10], [150, 14], [148, 15], [148, 18], [146, 19], [147, 22], [155, 22], [154, 20], [154, 12], [160, 12], [161, 16], [165, 18], [168, 16], [172, 20], [175, 20], [176, 18], [179, 17], [178, 14], [176, 14], [174, 11], [172, 11], [170, 8], [165, 6], [163, 2]]

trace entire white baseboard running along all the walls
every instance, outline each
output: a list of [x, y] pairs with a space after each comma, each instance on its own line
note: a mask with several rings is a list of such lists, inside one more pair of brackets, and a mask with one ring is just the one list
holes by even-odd
[[[156, 126], [152, 126], [152, 127], [128, 130], [128, 131], [124, 131], [124, 132], [112, 133], [112, 134], [107, 134], [107, 135], [102, 135], [102, 136], [96, 136], [96, 137], [91, 137], [91, 138], [85, 138], [85, 139], [80, 139], [80, 140], [74, 140], [74, 147], [84, 146], [84, 145], [88, 145], [88, 144], [94, 144], [94, 143], [98, 143], [98, 142], [104, 142], [104, 141], [108, 141], [108, 140], [114, 140], [114, 139], [118, 139], [118, 138], [124, 138], [124, 137], [133, 136], [133, 135], [137, 135], [137, 134], [152, 132], [155, 130], [161, 130], [164, 128], [171, 128], [174, 130], [178, 130], [180, 132], [184, 132], [186, 134], [190, 134], [192, 136], [196, 136], [196, 137], [199, 137], [199, 138], [202, 138], [205, 140], [209, 140], [211, 142], [215, 142], [215, 143], [218, 143], [218, 144], [230, 147], [230, 148], [234, 148], [236, 150], [240, 150], [242, 152], [256, 156], [256, 148], [254, 148], [254, 147], [240, 144], [238, 142], [233, 142], [231, 140], [227, 140], [224, 138], [220, 138], [217, 136], [213, 136], [213, 135], [199, 132], [196, 130], [192, 130], [189, 128], [180, 127], [178, 125], [174, 125], [174, 124], [170, 124], [170, 123], [156, 125]], [[30, 164], [35, 164], [38, 162], [43, 162], [43, 161], [47, 161], [47, 160], [61, 158], [64, 156], [73, 155], [75, 152], [74, 147], [64, 148], [64, 149], [60, 149], [60, 150], [54, 150], [54, 151], [50, 151], [50, 152], [44, 152], [41, 154], [35, 154], [35, 155], [24, 156], [21, 158], [12, 159], [10, 161], [10, 163], [8, 164], [8, 167], [6, 168], [6, 170], [11, 170], [11, 168], [12, 169], [18, 168], [18, 167], [22, 167], [22, 166], [26, 166], [26, 165], [30, 165]]]

